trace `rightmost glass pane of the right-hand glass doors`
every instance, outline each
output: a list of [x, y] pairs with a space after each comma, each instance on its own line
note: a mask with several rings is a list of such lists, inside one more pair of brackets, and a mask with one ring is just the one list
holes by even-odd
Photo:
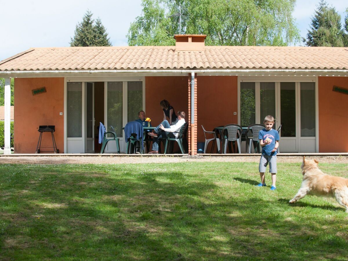
[[315, 137], [315, 84], [301, 82], [301, 137]]

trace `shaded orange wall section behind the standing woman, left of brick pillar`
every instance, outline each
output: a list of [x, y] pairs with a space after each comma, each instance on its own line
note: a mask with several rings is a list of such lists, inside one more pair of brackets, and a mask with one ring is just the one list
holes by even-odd
[[148, 76], [145, 77], [145, 113], [151, 118], [151, 125], [157, 126], [163, 121], [160, 101], [167, 100], [175, 114], [184, 111], [188, 121], [188, 76]]

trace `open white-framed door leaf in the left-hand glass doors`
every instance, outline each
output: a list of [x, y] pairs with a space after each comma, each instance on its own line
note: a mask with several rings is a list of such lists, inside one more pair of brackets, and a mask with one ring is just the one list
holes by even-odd
[[94, 82], [86, 82], [86, 153], [94, 153]]

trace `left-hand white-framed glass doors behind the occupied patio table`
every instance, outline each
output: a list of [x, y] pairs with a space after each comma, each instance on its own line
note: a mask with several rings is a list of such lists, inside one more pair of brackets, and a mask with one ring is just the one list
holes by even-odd
[[[134, 80], [75, 82], [67, 80], [65, 90], [65, 153], [94, 153], [98, 148], [99, 121], [107, 132], [120, 138], [120, 150], [125, 151], [124, 130], [127, 122], [138, 119], [144, 110], [143, 78]], [[98, 83], [98, 84], [97, 84]], [[101, 85], [102, 84], [102, 85]], [[94, 99], [95, 95], [104, 98]], [[102, 107], [100, 107], [102, 106]], [[100, 109], [103, 108], [103, 109]], [[95, 124], [95, 110], [98, 120]], [[101, 112], [101, 114], [99, 113]], [[108, 134], [107, 138], [110, 138]], [[96, 148], [95, 148], [96, 146]], [[105, 152], [117, 152], [116, 142], [108, 142]]]

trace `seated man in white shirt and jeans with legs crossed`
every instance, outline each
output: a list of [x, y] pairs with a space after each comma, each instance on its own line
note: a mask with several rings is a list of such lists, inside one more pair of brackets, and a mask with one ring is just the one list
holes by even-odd
[[[153, 136], [153, 142], [152, 142], [152, 151], [149, 152], [149, 154], [158, 154], [158, 139], [159, 138], [165, 138], [167, 135], [165, 132], [178, 132], [178, 133], [172, 133], [176, 138], [179, 137], [179, 131], [182, 125], [185, 123], [185, 112], [178, 111], [177, 112], [177, 119], [178, 121], [174, 125], [169, 125], [169, 122], [167, 120], [164, 120], [161, 122], [160, 125], [158, 125], [153, 132], [148, 133], [150, 136]], [[165, 132], [159, 133], [159, 130], [164, 130]]]

